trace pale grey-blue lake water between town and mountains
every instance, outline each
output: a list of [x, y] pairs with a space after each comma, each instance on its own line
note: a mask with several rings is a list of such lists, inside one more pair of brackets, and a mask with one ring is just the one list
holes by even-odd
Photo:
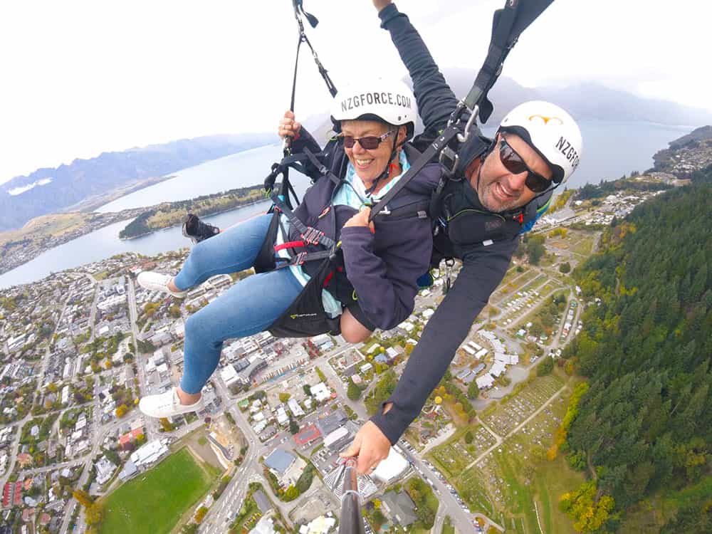
[[[587, 182], [617, 179], [632, 171], [643, 172], [652, 167], [655, 152], [667, 147], [671, 140], [689, 133], [688, 126], [658, 125], [649, 122], [582, 121], [584, 137], [581, 164], [567, 183], [581, 187]], [[485, 129], [492, 135], [491, 129]], [[273, 162], [281, 157], [279, 145], [268, 145], [238, 154], [214, 159], [175, 174], [175, 177], [140, 191], [128, 194], [101, 206], [97, 211], [118, 211], [126, 208], [152, 206], [163, 201], [192, 199], [204, 194], [261, 184]], [[308, 179], [294, 175], [295, 189], [303, 193]], [[207, 217], [206, 221], [220, 227], [229, 226], [265, 211], [268, 202], [226, 211]], [[0, 288], [30, 283], [51, 272], [63, 271], [85, 263], [99, 261], [117, 253], [137, 252], [147, 256], [189, 246], [180, 228], [155, 232], [130, 241], [118, 239], [119, 231], [129, 221], [105, 226], [66, 244], [52, 248], [18, 268], [0, 275]]]

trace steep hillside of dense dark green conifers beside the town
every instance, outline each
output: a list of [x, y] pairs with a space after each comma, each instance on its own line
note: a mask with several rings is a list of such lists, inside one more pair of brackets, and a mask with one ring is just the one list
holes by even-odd
[[[638, 206], [575, 273], [600, 303], [565, 352], [590, 384], [566, 445], [597, 500], [614, 499], [609, 530], [642, 499], [711, 476], [711, 177]], [[664, 518], [670, 531], [712, 532], [712, 497], [694, 495]]]

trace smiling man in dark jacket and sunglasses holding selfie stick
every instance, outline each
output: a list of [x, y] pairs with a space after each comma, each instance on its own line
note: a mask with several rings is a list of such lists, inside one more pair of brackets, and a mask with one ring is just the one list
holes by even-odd
[[[407, 16], [390, 0], [373, 0], [413, 80], [425, 131], [424, 149], [444, 129], [457, 99]], [[416, 142], [418, 146], [418, 143]], [[495, 140], [473, 136], [461, 147], [454, 179], [444, 182], [436, 204], [434, 247], [462, 261], [454, 286], [413, 350], [392, 396], [358, 431], [342, 456], [358, 455], [370, 473], [388, 456], [502, 281], [518, 236], [545, 211], [555, 187], [578, 165], [581, 133], [567, 112], [544, 102], [524, 103], [502, 121]], [[483, 150], [484, 147], [484, 150]]]

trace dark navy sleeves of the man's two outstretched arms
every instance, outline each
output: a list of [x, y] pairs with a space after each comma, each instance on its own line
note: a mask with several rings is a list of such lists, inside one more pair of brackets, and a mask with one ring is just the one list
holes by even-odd
[[[457, 98], [440, 73], [428, 48], [405, 14], [394, 4], [379, 12], [382, 28], [408, 68], [425, 131], [414, 144], [423, 150], [443, 130], [457, 105]], [[387, 414], [372, 417], [394, 444], [420, 413], [437, 386], [489, 296], [502, 281], [519, 239], [496, 241], [490, 246], [456, 250], [463, 266], [442, 303], [430, 318], [413, 350], [397, 387], [387, 402]]]

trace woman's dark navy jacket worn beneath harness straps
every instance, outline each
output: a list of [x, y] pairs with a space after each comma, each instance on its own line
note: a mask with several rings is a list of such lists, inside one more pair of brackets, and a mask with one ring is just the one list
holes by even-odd
[[[320, 152], [318, 143], [302, 128], [292, 149], [299, 153], [305, 147], [311, 152]], [[411, 162], [419, 155], [410, 145], [405, 145], [404, 150]], [[342, 145], [330, 141], [324, 153], [325, 166], [343, 178], [348, 159]], [[334, 237], [333, 219], [320, 215], [330, 205], [336, 185], [313, 165], [306, 167], [315, 182], [295, 208], [295, 215], [308, 226]], [[427, 203], [437, 187], [440, 173], [439, 165], [427, 164], [398, 196]], [[366, 226], [342, 228], [344, 223], [337, 220], [336, 238], [342, 241], [346, 276], [354, 286], [360, 308], [378, 328], [394, 328], [412, 313], [418, 293], [417, 279], [428, 271], [432, 251], [431, 221], [415, 214], [408, 217], [382, 215], [374, 221], [373, 234]]]

